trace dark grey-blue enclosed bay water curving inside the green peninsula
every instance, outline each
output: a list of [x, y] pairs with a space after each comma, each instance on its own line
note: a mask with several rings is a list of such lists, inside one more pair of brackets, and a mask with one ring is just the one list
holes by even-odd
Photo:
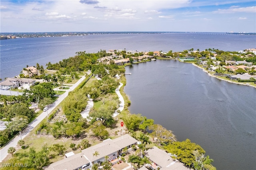
[[131, 113], [170, 129], [206, 150], [220, 170], [253, 170], [256, 88], [208, 76], [192, 64], [157, 60], [126, 66]]

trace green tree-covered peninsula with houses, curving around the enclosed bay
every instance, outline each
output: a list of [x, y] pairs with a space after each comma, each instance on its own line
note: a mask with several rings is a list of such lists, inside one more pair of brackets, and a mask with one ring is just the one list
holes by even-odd
[[[67, 169], [84, 170], [214, 170], [213, 160], [204, 155], [202, 147], [189, 139], [177, 141], [171, 130], [154, 124], [154, 120], [129, 113], [131, 102], [122, 86], [126, 84], [124, 66], [175, 59], [222, 80], [256, 87], [255, 53], [256, 49], [175, 53], [101, 50], [49, 62], [46, 69], [39, 63], [24, 67], [19, 76], [0, 82], [0, 118], [6, 125], [0, 131], [1, 161], [36, 169], [65, 165]], [[103, 149], [105, 145], [112, 149]], [[168, 161], [162, 162], [159, 157]], [[2, 168], [10, 167], [4, 164]]]

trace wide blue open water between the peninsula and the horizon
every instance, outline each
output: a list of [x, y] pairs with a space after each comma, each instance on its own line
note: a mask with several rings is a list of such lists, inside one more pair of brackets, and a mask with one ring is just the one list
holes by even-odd
[[256, 48], [256, 35], [223, 33], [100, 34], [74, 37], [20, 38], [0, 41], [0, 78], [20, 74], [26, 65], [57, 63], [78, 51], [109, 49], [183, 51], [215, 48], [239, 51]]

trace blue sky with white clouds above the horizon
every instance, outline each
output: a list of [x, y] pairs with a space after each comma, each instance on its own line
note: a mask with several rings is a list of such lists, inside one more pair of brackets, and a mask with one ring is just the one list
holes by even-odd
[[255, 0], [0, 0], [1, 32], [256, 32]]

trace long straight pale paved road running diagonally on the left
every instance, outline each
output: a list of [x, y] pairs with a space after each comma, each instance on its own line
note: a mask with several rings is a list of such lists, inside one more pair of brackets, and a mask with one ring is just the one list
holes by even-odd
[[20, 139], [24, 139], [24, 137], [26, 137], [28, 135], [28, 133], [30, 133], [30, 131], [32, 131], [32, 129], [34, 129], [48, 115], [48, 113], [50, 113], [55, 107], [58, 106], [58, 104], [60, 104], [60, 102], [62, 102], [62, 100], [64, 100], [64, 98], [66, 98], [68, 96], [68, 92], [74, 90], [84, 79], [85, 79], [85, 76], [82, 76], [82, 78], [80, 78], [80, 80], [78, 80], [78, 82], [76, 82], [72, 87], [70, 87], [68, 90], [66, 90], [66, 92], [64, 94], [60, 95], [59, 98], [50, 107], [48, 107], [48, 111], [44, 111], [38, 117], [36, 117], [36, 119], [34, 119], [34, 121], [32, 121], [28, 125], [28, 127], [26, 127], [26, 129], [24, 129], [21, 132], [21, 136], [17, 135], [5, 147], [3, 147], [0, 150], [0, 162], [2, 162], [4, 160], [4, 158], [6, 158], [6, 156], [8, 155], [8, 152], [7, 152], [8, 148], [17, 147], [18, 141]]

